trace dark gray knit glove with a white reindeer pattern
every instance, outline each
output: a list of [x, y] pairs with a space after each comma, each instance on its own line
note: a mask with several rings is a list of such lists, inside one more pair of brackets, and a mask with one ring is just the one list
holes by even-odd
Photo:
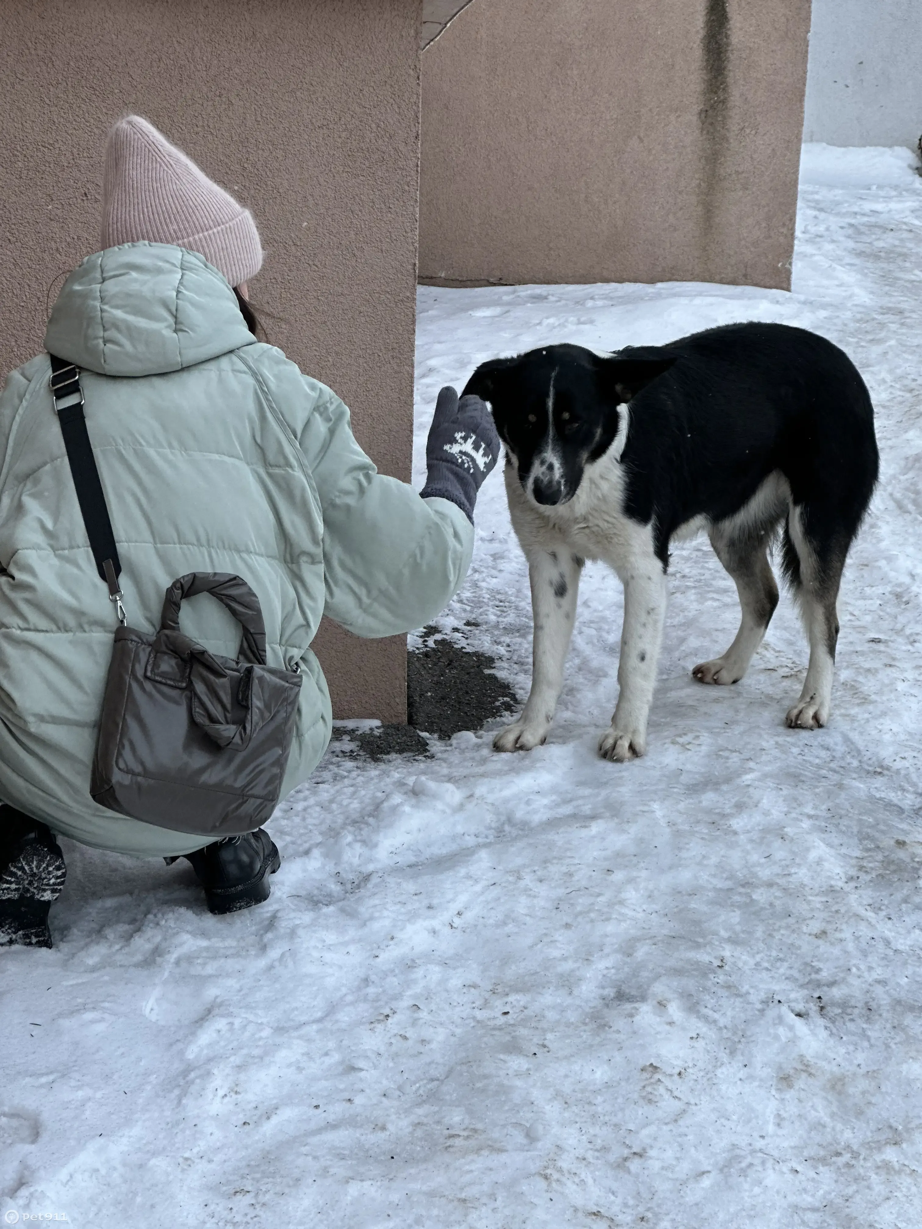
[[423, 499], [450, 499], [473, 524], [477, 492], [498, 456], [499, 436], [487, 403], [472, 393], [459, 401], [454, 388], [443, 388], [425, 445]]

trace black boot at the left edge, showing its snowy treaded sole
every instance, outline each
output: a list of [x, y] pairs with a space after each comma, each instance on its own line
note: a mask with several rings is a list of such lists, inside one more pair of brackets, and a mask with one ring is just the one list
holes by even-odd
[[48, 911], [66, 874], [52, 830], [15, 806], [0, 806], [0, 946], [52, 946]]

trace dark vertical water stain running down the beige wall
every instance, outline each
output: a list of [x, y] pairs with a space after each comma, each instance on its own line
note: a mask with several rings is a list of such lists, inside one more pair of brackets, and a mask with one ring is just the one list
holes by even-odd
[[730, 14], [728, 0], [706, 0], [701, 34], [701, 231], [707, 249], [717, 221], [720, 173], [727, 154], [730, 111]]

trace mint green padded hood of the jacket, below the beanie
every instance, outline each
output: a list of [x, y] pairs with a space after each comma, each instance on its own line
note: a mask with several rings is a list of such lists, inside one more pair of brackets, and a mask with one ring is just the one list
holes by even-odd
[[44, 344], [87, 371], [148, 376], [254, 340], [214, 265], [186, 248], [144, 242], [108, 247], [74, 269], [52, 308]]

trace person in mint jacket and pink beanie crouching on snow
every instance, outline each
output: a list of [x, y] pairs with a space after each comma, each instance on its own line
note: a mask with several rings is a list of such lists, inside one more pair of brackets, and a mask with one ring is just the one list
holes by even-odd
[[[444, 388], [422, 494], [377, 474], [343, 402], [256, 339], [246, 283], [262, 251], [252, 216], [139, 117], [109, 135], [102, 242], [61, 290], [48, 353], [12, 372], [0, 396], [0, 944], [50, 946], [61, 833], [188, 858], [213, 912], [269, 895], [279, 852], [262, 827], [215, 839], [203, 832], [220, 833], [220, 822], [192, 822], [188, 807], [161, 825], [91, 796], [122, 603], [124, 637], [184, 645], [204, 671], [205, 707], [224, 696], [231, 713], [245, 699], [221, 662], [243, 658], [234, 612], [250, 594], [259, 629], [245, 623], [248, 660], [297, 676], [284, 798], [329, 740], [329, 696], [310, 649], [321, 616], [386, 637], [443, 610], [467, 573], [477, 490], [499, 450], [484, 403], [459, 404]], [[76, 426], [73, 414], [65, 422], [74, 407]], [[82, 455], [65, 439], [77, 428]], [[93, 462], [95, 512], [84, 489]], [[93, 541], [107, 520], [120, 574], [101, 564]], [[165, 630], [171, 586], [177, 617]], [[183, 596], [192, 600], [179, 630]], [[238, 732], [219, 718], [195, 720], [219, 745]]]

